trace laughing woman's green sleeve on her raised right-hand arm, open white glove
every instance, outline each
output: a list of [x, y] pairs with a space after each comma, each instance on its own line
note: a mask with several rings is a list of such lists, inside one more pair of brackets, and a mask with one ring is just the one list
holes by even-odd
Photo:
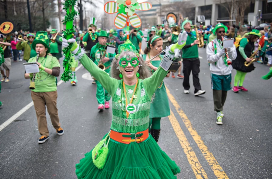
[[145, 78], [143, 80], [144, 88], [146, 89], [147, 95], [150, 99], [152, 98], [152, 95], [157, 90], [160, 83], [164, 80], [167, 73], [168, 71], [165, 71], [159, 66], [151, 77]]

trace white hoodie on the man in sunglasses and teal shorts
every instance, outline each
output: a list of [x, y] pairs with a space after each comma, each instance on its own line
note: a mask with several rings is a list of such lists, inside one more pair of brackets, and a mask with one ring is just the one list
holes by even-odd
[[[217, 53], [214, 52], [214, 44], [216, 44]], [[232, 66], [226, 66], [224, 63], [223, 56], [225, 53], [221, 53], [221, 45], [218, 43], [217, 39], [212, 40], [207, 46], [206, 53], [207, 53], [207, 60], [210, 62], [210, 70], [215, 75], [229, 75], [232, 73]], [[223, 48], [223, 47], [222, 47]], [[237, 57], [236, 48], [233, 44], [231, 48], [228, 48], [228, 56], [230, 59], [235, 60]], [[216, 65], [215, 65], [215, 62]]]

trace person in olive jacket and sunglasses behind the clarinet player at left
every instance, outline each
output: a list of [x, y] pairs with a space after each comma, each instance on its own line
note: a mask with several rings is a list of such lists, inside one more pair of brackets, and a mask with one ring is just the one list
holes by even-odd
[[24, 60], [28, 61], [30, 58], [35, 57], [37, 55], [36, 51], [32, 49], [32, 42], [35, 39], [35, 35], [33, 33], [29, 33], [27, 35], [28, 40], [22, 41], [22, 39], [16, 44], [17, 50], [24, 49]]

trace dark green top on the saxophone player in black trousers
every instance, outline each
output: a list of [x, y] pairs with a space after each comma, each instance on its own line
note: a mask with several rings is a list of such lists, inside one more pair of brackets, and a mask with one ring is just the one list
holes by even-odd
[[[196, 40], [196, 32], [191, 31], [191, 33], [187, 33], [188, 37], [186, 40], [186, 44], [189, 45]], [[182, 58], [198, 58], [198, 47], [197, 45], [191, 46], [186, 49], [182, 49]]]

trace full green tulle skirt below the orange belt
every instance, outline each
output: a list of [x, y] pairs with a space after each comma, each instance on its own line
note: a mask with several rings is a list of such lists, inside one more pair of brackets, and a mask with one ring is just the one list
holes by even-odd
[[123, 144], [110, 139], [102, 170], [92, 162], [92, 151], [76, 164], [78, 179], [174, 179], [180, 168], [151, 135], [141, 142]]

